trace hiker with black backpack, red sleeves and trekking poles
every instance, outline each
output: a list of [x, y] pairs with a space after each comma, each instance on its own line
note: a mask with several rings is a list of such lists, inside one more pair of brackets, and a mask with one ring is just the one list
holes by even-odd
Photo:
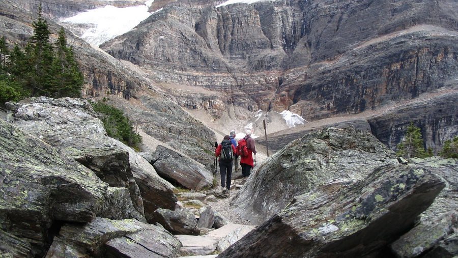
[[231, 177], [232, 177], [232, 160], [234, 155], [237, 154], [237, 150], [234, 148], [231, 142], [231, 137], [225, 135], [221, 144], [216, 148], [216, 156], [219, 157], [219, 174], [221, 175], [221, 188], [223, 193], [228, 192], [231, 189]]

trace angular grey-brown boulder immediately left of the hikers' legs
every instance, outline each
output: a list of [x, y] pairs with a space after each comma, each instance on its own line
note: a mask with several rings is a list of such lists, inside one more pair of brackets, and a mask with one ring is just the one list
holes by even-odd
[[169, 182], [193, 190], [213, 187], [213, 174], [202, 164], [164, 146], [156, 148], [150, 162], [157, 173]]

